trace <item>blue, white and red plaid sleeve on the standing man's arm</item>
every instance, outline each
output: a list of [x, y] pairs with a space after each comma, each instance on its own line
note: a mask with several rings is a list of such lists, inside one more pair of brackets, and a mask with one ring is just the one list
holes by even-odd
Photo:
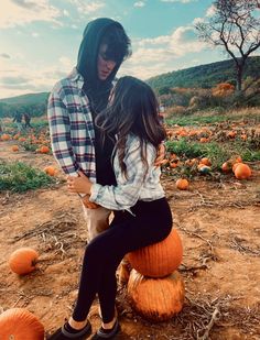
[[69, 117], [58, 91], [53, 90], [50, 95], [47, 117], [54, 157], [65, 174], [76, 175], [78, 165], [71, 143]]

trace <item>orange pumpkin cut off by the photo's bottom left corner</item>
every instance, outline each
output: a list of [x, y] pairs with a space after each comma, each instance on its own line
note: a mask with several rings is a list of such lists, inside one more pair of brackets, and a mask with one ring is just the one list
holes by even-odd
[[44, 327], [25, 308], [11, 308], [0, 315], [1, 340], [43, 340]]

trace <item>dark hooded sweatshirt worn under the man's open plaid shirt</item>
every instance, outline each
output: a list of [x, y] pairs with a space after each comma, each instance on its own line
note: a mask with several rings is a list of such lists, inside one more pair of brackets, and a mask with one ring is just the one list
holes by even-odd
[[97, 58], [100, 42], [109, 28], [116, 25], [122, 29], [121, 24], [108, 18], [99, 18], [89, 22], [84, 31], [83, 41], [78, 51], [77, 70], [84, 77], [83, 90], [90, 102], [90, 110], [95, 127], [95, 156], [97, 183], [101, 185], [115, 185], [116, 177], [112, 171], [111, 154], [113, 142], [106, 138], [101, 142], [100, 131], [95, 124], [96, 116], [107, 107], [108, 97], [112, 88], [112, 80], [121, 63], [117, 63], [113, 70], [106, 80], [100, 80], [97, 73]]

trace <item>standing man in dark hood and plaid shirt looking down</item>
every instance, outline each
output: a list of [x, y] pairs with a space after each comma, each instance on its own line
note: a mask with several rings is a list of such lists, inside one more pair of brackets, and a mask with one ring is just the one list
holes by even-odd
[[[101, 143], [95, 118], [107, 107], [116, 74], [130, 55], [130, 39], [119, 22], [99, 18], [88, 23], [76, 67], [54, 86], [48, 99], [52, 150], [65, 174], [83, 171], [94, 183], [115, 184], [113, 143], [110, 139]], [[110, 210], [80, 196], [91, 240], [108, 228]]]

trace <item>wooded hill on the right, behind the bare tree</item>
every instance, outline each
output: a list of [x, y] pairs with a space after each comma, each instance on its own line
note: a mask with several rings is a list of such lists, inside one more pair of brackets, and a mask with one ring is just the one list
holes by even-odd
[[[250, 57], [247, 62], [243, 78], [256, 76], [256, 74], [259, 74], [259, 70], [260, 56]], [[226, 81], [234, 85], [236, 84], [236, 73], [232, 59], [174, 70], [147, 80], [147, 83], [155, 90], [173, 87], [212, 88], [219, 83]]]

